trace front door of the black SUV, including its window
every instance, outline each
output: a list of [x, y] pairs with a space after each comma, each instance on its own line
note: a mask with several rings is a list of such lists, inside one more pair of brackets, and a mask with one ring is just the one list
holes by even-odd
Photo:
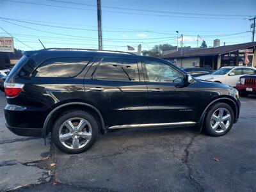
[[195, 121], [198, 105], [195, 83], [182, 86], [184, 74], [160, 61], [144, 60], [143, 72], [148, 88], [148, 123]]

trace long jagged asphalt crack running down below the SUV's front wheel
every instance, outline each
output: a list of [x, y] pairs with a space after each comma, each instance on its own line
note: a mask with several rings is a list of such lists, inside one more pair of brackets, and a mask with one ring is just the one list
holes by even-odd
[[186, 164], [188, 168], [188, 180], [192, 184], [192, 186], [196, 189], [196, 191], [204, 191], [203, 186], [195, 179], [193, 176], [193, 168], [191, 164], [189, 164], [189, 150], [191, 146], [193, 145], [193, 141], [195, 141], [195, 138], [199, 136], [200, 134], [194, 135], [191, 140], [189, 141], [188, 145], [186, 146], [184, 152], [185, 157], [182, 158], [182, 163]]

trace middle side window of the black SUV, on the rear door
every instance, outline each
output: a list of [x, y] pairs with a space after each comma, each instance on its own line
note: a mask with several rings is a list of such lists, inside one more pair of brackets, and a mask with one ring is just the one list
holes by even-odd
[[123, 58], [104, 58], [93, 77], [100, 80], [140, 81], [137, 60]]

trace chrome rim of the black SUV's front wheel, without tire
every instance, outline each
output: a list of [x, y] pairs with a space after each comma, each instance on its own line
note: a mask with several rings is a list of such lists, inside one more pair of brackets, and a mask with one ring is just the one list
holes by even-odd
[[231, 122], [230, 111], [227, 108], [218, 108], [212, 113], [211, 127], [215, 132], [224, 132]]

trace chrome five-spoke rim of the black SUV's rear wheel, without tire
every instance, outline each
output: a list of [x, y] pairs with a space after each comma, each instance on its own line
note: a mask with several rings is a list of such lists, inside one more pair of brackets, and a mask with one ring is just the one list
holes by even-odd
[[91, 138], [92, 125], [83, 118], [70, 118], [60, 127], [59, 139], [61, 144], [67, 148], [83, 148]]

